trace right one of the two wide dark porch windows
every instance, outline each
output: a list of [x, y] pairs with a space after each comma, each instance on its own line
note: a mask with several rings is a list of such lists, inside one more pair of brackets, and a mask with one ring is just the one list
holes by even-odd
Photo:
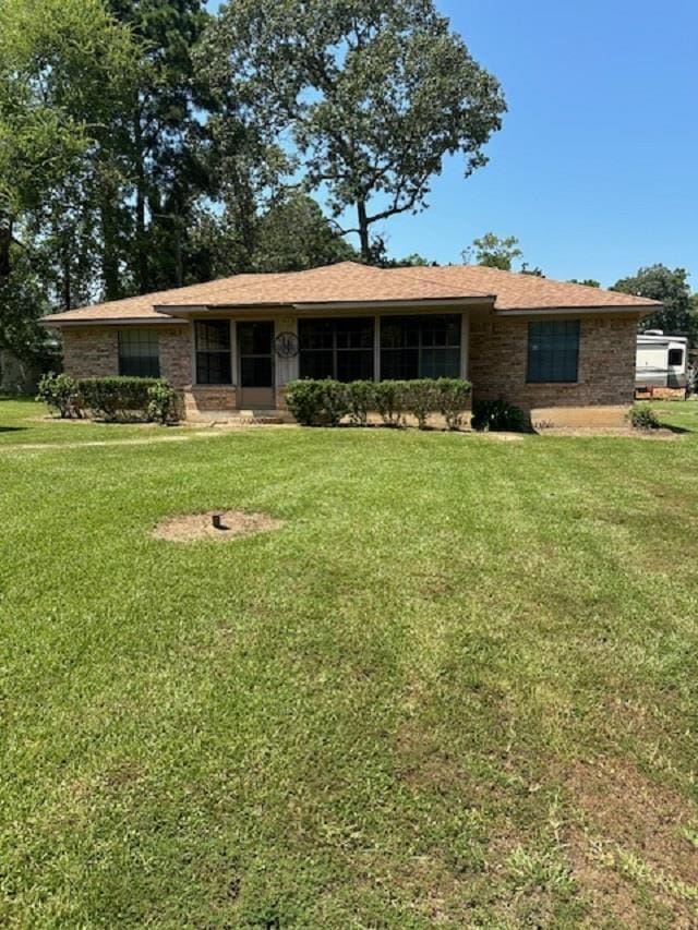
[[460, 375], [460, 315], [383, 316], [381, 377], [384, 381]]

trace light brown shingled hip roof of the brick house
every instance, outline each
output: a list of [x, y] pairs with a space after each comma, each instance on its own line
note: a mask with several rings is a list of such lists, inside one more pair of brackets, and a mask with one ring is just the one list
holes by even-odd
[[477, 265], [374, 268], [342, 262], [306, 271], [236, 275], [203, 285], [110, 301], [43, 317], [48, 326], [120, 321], [168, 322], [184, 307], [280, 307], [411, 302], [476, 302], [495, 311], [611, 310], [654, 301]]

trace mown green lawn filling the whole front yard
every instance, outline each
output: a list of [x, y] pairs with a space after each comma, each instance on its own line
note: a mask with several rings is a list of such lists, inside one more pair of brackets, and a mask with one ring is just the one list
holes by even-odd
[[[0, 925], [697, 926], [698, 404], [654, 406], [695, 432], [0, 402]], [[148, 535], [217, 507], [285, 524]]]

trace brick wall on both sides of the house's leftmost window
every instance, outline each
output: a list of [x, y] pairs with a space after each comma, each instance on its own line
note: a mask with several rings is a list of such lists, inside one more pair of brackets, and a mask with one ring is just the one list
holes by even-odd
[[[158, 326], [160, 374], [172, 387], [192, 382], [190, 326]], [[63, 365], [74, 377], [105, 377], [119, 374], [119, 327], [76, 326], [62, 331]]]

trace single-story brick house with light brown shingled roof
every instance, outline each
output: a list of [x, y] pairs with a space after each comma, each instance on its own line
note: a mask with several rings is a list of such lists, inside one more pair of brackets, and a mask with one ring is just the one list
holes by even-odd
[[188, 416], [284, 409], [294, 378], [460, 376], [535, 420], [618, 422], [635, 390], [642, 298], [474, 265], [237, 275], [70, 310], [79, 377], [152, 375]]

